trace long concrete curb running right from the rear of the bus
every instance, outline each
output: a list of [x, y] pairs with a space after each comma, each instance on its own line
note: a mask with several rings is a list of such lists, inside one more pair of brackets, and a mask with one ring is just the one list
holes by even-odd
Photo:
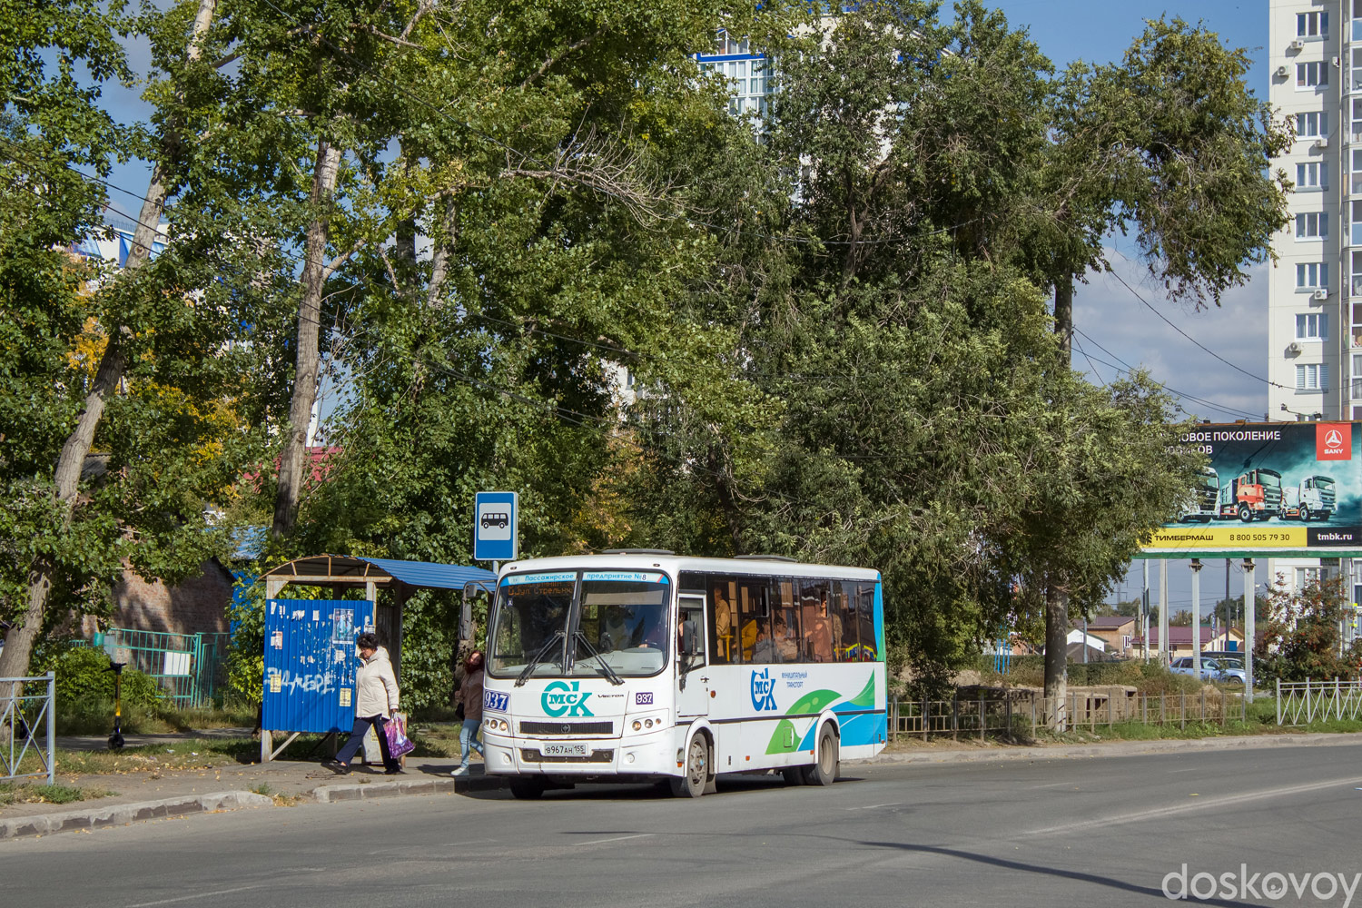
[[[1265, 747], [1320, 747], [1362, 745], [1362, 734], [1312, 732], [1282, 735], [1238, 735], [1233, 738], [1166, 738], [1159, 741], [1113, 741], [1107, 745], [1072, 745], [1066, 747], [1024, 746], [997, 750], [937, 750], [922, 753], [878, 754], [857, 760], [854, 765], [902, 765], [918, 762], [987, 762], [996, 760], [1069, 760], [1076, 757], [1139, 757], [1143, 754], [1178, 753], [1184, 750], [1229, 750]], [[853, 761], [846, 761], [853, 765]]]

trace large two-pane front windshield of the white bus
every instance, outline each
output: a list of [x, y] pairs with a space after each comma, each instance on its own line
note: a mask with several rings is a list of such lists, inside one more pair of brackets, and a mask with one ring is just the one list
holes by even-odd
[[503, 580], [492, 615], [489, 674], [519, 675], [530, 663], [537, 678], [662, 671], [670, 638], [666, 574], [587, 570], [580, 587], [577, 576]]

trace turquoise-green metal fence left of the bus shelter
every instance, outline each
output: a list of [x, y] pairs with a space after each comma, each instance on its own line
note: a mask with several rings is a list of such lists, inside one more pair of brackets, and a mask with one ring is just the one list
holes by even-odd
[[151, 675], [177, 707], [203, 707], [226, 679], [229, 634], [177, 634], [161, 630], [109, 628], [89, 645], [114, 662]]

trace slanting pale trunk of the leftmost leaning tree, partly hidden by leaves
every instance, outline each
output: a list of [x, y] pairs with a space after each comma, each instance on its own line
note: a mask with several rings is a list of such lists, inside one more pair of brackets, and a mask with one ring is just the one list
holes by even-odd
[[[199, 12], [193, 19], [193, 31], [185, 48], [185, 57], [192, 63], [199, 59], [202, 49], [199, 38], [212, 25], [212, 14], [217, 10], [217, 0], [199, 0]], [[151, 246], [159, 233], [161, 215], [166, 207], [168, 173], [166, 159], [173, 157], [177, 139], [172, 128], [166, 129], [162, 142], [162, 161], [158, 161], [151, 170], [151, 181], [147, 185], [147, 195], [142, 200], [142, 211], [138, 215], [138, 227], [132, 233], [132, 248], [128, 250], [128, 260], [124, 271], [131, 272], [140, 268], [151, 259]], [[84, 407], [76, 418], [76, 426], [67, 436], [57, 456], [57, 466], [52, 474], [54, 494], [61, 505], [63, 520], [69, 523], [75, 513], [76, 493], [80, 490], [80, 471], [84, 460], [94, 445], [94, 433], [104, 418], [104, 406], [110, 396], [117, 393], [123, 381], [123, 372], [127, 368], [127, 358], [123, 351], [123, 325], [109, 331], [109, 340], [105, 344], [104, 355], [99, 357], [99, 366], [95, 369], [94, 384], [86, 395]], [[42, 619], [48, 610], [48, 598], [52, 594], [52, 574], [54, 565], [46, 560], [38, 560], [29, 570], [29, 603], [23, 611], [23, 618], [15, 623], [4, 638], [4, 649], [0, 651], [0, 678], [20, 678], [29, 672], [29, 658], [33, 655], [33, 645], [42, 630]], [[14, 696], [11, 690], [0, 690], [0, 697]]]

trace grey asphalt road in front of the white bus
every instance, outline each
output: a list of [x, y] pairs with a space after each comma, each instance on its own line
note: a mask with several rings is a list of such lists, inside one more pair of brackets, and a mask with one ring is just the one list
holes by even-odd
[[1193, 904], [1362, 908], [1359, 747], [843, 775], [831, 788], [720, 779], [699, 800], [591, 785], [541, 802], [394, 798], [15, 840], [0, 843], [0, 892], [15, 908], [1088, 908], [1167, 904], [1165, 877], [1186, 864], [1207, 896]]

